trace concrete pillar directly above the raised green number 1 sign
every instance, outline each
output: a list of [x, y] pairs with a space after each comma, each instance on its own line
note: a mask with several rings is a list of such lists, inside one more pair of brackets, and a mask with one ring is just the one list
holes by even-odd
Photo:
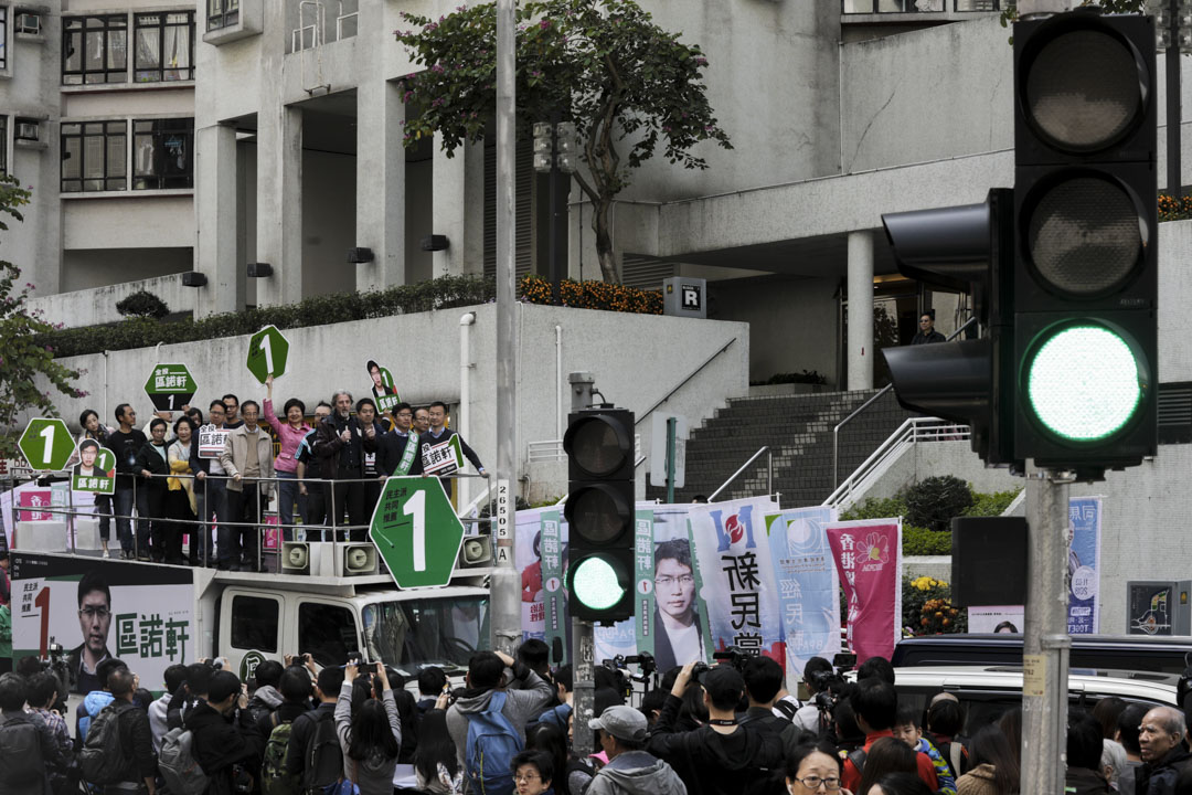
[[257, 114], [256, 261], [273, 266], [257, 279], [261, 306], [302, 300], [302, 108], [277, 105]]

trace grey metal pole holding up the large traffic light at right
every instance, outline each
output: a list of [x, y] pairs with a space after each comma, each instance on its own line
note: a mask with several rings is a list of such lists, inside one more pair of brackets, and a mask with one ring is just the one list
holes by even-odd
[[1026, 462], [1023, 793], [1062, 793], [1068, 734], [1068, 473]]

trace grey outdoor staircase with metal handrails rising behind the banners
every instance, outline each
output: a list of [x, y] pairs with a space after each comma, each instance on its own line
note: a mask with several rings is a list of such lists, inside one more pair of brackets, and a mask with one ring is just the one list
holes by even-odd
[[[832, 473], [832, 429], [875, 395], [820, 392], [733, 398], [728, 406], [691, 431], [687, 442], [685, 485], [675, 502], [709, 496], [765, 445], [774, 454], [774, 490], [783, 508], [818, 505], [836, 487]], [[839, 476], [846, 478], [886, 441], [911, 412], [887, 392], [839, 433]], [[766, 458], [762, 455], [716, 497], [756, 497], [766, 491]], [[665, 499], [666, 490], [648, 486], [646, 498]]]

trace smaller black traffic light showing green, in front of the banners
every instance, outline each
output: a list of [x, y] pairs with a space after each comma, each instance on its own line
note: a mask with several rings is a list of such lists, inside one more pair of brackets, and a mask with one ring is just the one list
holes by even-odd
[[572, 617], [633, 615], [633, 412], [589, 409], [567, 418], [567, 591]]

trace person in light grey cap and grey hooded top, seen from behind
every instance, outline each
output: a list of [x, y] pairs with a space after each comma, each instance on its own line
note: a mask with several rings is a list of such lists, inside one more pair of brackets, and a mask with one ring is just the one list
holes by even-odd
[[588, 721], [597, 732], [608, 764], [585, 795], [687, 795], [675, 770], [646, 751], [646, 716], [633, 707], [613, 706]]

